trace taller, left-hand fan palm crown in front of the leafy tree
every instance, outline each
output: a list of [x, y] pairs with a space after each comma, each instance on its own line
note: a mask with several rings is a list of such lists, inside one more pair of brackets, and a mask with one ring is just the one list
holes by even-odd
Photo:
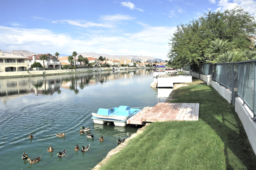
[[205, 52], [205, 56], [213, 61], [215, 58], [218, 58], [218, 55], [224, 54], [227, 51], [236, 50], [233, 42], [228, 42], [228, 40], [221, 40], [217, 38], [209, 44], [209, 48]]

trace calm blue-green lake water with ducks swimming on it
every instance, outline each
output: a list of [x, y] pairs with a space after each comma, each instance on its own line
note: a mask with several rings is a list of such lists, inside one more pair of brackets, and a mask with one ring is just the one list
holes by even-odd
[[[87, 169], [93, 168], [117, 146], [118, 138], [128, 138], [139, 126], [116, 127], [93, 124], [91, 113], [99, 108], [127, 105], [143, 109], [166, 98], [151, 89], [153, 70], [106, 71], [33, 78], [0, 80], [0, 166], [1, 169]], [[169, 94], [169, 89], [166, 96]], [[161, 96], [163, 97], [163, 89]], [[79, 133], [92, 127], [94, 139]], [[55, 133], [65, 133], [64, 138]], [[29, 139], [29, 134], [34, 135]], [[103, 135], [105, 141], [99, 142]], [[86, 153], [74, 150], [90, 144]], [[53, 153], [47, 149], [51, 145]], [[67, 150], [64, 158], [59, 151]], [[30, 165], [21, 156], [42, 156]]]

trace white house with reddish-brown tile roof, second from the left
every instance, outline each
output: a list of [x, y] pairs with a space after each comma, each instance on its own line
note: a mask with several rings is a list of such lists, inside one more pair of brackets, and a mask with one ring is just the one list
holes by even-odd
[[[47, 60], [45, 60], [44, 62], [41, 61], [40, 60], [40, 56], [41, 55], [46, 55], [47, 56]], [[29, 56], [28, 57], [28, 65], [29, 65], [28, 68], [30, 68], [31, 65], [35, 61], [41, 63], [42, 66], [44, 66], [45, 68], [48, 68], [48, 69], [61, 69], [61, 62], [55, 56], [52, 56], [49, 53]]]

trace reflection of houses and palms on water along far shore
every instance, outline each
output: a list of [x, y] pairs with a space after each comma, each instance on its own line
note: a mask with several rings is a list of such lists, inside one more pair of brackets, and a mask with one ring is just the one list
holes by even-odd
[[[44, 77], [29, 77], [3, 79], [0, 81], [0, 99], [5, 104], [6, 101], [19, 98], [28, 94], [53, 95], [61, 94], [61, 88], [69, 89], [75, 94], [87, 86], [104, 84], [108, 81], [115, 81], [120, 78], [132, 78], [140, 74], [151, 74], [151, 69], [123, 70], [90, 72], [73, 75], [56, 75]], [[125, 83], [125, 82], [124, 82]]]

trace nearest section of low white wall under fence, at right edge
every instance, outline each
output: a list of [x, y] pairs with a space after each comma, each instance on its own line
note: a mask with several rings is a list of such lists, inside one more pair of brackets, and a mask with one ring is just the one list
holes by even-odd
[[252, 121], [251, 118], [253, 118], [253, 112], [250, 111], [250, 109], [246, 106], [246, 104], [243, 104], [243, 101], [241, 98], [236, 98], [236, 106], [235, 110], [238, 114], [243, 126], [244, 130], [248, 136], [248, 139], [250, 141], [250, 144], [253, 148], [254, 153], [256, 154], [256, 122]]

